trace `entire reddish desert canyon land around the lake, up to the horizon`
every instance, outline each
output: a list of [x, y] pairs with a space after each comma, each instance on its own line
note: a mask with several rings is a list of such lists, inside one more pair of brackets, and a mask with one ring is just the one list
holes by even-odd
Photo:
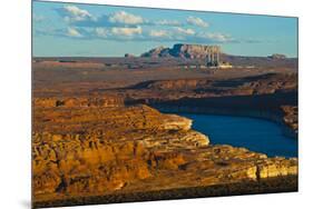
[[164, 113], [264, 118], [296, 140], [297, 70], [264, 59], [227, 70], [180, 68], [180, 58], [35, 59], [33, 207], [296, 191], [297, 158], [213, 145], [193, 120]]

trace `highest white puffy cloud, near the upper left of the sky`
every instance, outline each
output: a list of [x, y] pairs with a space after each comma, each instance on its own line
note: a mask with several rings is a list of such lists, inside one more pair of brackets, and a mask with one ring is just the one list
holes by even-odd
[[91, 13], [87, 10], [79, 9], [76, 6], [65, 6], [63, 11], [66, 13], [66, 21], [84, 21], [84, 20], [95, 20]]

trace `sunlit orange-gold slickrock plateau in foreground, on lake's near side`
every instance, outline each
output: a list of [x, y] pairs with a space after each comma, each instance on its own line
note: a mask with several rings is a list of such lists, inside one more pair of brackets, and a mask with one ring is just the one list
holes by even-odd
[[35, 108], [36, 207], [297, 175], [296, 159], [211, 146], [192, 120], [147, 106]]

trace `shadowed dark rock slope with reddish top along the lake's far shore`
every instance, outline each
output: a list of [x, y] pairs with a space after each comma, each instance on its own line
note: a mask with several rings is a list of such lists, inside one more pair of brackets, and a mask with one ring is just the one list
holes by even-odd
[[[235, 115], [286, 125], [297, 137], [297, 74], [266, 73], [236, 79], [145, 81], [125, 88], [126, 103], [146, 103], [164, 111]], [[285, 129], [285, 128], [284, 128]]]

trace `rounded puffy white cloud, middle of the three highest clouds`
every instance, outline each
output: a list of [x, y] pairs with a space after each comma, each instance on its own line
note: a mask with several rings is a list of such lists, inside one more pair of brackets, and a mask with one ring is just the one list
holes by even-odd
[[115, 12], [113, 16], [109, 17], [109, 21], [113, 23], [124, 23], [124, 24], [144, 23], [144, 19], [140, 16], [127, 13], [126, 11]]

